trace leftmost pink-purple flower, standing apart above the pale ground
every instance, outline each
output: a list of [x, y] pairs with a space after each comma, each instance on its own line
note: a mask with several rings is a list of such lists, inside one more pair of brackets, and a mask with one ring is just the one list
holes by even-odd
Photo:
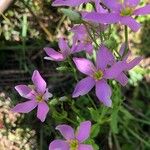
[[28, 100], [17, 104], [12, 111], [28, 113], [37, 107], [37, 118], [44, 122], [49, 111], [47, 100], [52, 97], [52, 94], [48, 92], [46, 82], [37, 70], [33, 72], [32, 81], [34, 85], [17, 85], [15, 87], [20, 96]]

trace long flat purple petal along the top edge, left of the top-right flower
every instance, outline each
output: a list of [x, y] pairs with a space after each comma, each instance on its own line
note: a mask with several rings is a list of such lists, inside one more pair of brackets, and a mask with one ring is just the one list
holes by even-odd
[[71, 6], [76, 7], [81, 5], [82, 3], [87, 3], [90, 0], [55, 0], [52, 3], [52, 6]]

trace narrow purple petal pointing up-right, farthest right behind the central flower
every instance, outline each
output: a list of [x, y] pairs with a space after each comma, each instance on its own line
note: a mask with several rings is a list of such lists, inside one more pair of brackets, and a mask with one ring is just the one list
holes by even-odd
[[140, 63], [140, 61], [142, 60], [142, 57], [137, 57], [135, 59], [133, 59], [132, 61], [130, 61], [128, 64], [126, 64], [126, 68], [125, 70], [131, 70], [132, 68], [134, 68], [137, 64]]

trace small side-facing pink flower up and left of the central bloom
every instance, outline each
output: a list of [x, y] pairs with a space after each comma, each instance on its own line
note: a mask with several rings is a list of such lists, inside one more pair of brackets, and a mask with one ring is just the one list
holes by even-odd
[[63, 38], [59, 39], [58, 45], [60, 48], [60, 52], [55, 51], [53, 48], [49, 48], [49, 47], [44, 48], [46, 54], [48, 55], [48, 57], [44, 57], [44, 58], [53, 61], [64, 61], [71, 54], [86, 50], [83, 44], [76, 43], [76, 42], [73, 43], [72, 47], [70, 48], [66, 40], [64, 40]]

